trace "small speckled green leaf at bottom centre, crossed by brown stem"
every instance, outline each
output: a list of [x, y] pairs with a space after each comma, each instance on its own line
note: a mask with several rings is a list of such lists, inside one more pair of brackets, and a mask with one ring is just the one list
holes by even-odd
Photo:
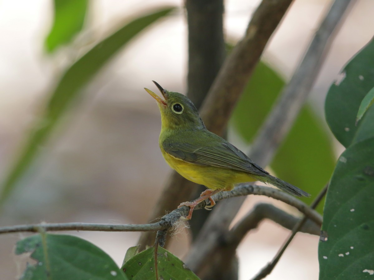
[[[199, 279], [180, 259], [162, 247], [159, 247], [157, 251], [157, 266], [159, 279]], [[154, 247], [148, 248], [129, 259], [122, 266], [122, 270], [125, 271], [130, 280], [156, 279]]]

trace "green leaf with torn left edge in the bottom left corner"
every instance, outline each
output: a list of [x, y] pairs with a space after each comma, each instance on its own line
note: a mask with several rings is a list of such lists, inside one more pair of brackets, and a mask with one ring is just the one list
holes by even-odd
[[16, 245], [16, 254], [31, 252], [21, 280], [126, 280], [113, 259], [92, 243], [76, 236], [37, 234]]

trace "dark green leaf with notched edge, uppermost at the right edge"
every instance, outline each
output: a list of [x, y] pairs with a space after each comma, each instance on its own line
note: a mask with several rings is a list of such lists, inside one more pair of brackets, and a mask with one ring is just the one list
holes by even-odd
[[[341, 79], [327, 93], [325, 115], [336, 139], [348, 147], [358, 128], [355, 122], [362, 99], [374, 87], [374, 40], [344, 67]], [[370, 126], [374, 130], [374, 122]]]

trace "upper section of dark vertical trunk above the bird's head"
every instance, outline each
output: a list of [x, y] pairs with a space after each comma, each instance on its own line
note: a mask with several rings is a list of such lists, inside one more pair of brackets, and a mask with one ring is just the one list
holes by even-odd
[[223, 0], [187, 0], [188, 91], [200, 108], [225, 59]]

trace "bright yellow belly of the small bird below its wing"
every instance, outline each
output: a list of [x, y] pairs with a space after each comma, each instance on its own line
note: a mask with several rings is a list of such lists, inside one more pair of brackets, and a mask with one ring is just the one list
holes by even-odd
[[235, 184], [256, 181], [249, 173], [214, 166], [191, 164], [177, 159], [165, 151], [162, 155], [169, 166], [187, 180], [202, 184], [208, 189], [232, 190]]

